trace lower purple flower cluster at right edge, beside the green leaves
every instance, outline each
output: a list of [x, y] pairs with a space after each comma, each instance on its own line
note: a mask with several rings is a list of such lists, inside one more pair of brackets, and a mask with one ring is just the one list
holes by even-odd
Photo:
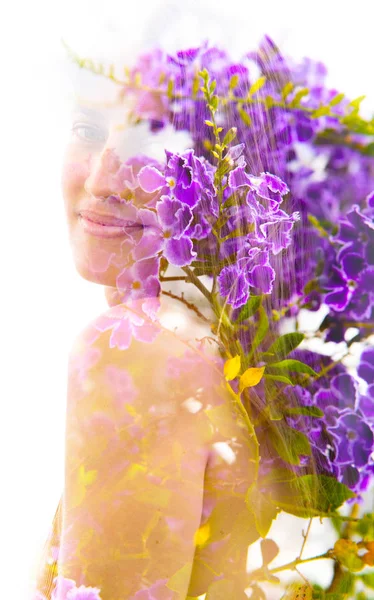
[[[365, 491], [374, 473], [374, 386], [368, 385], [362, 394], [343, 365], [331, 368], [331, 359], [309, 351], [298, 350], [294, 356], [330, 371], [308, 388], [296, 385], [284, 389], [286, 402], [323, 412], [322, 418], [288, 416], [288, 424], [307, 435], [319, 473], [336, 477], [355, 492]], [[362, 353], [358, 374], [372, 383], [372, 349]]]

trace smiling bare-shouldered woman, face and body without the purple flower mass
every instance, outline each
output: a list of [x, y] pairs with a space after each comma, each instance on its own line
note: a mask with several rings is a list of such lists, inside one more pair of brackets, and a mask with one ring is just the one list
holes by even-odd
[[48, 600], [172, 600], [225, 577], [245, 598], [258, 537], [244, 502], [251, 443], [208, 320], [162, 293], [161, 193], [138, 178], [159, 163], [126, 146], [125, 100], [77, 102], [64, 157], [75, 265], [105, 286], [109, 308], [70, 353], [65, 487], [37, 589]]

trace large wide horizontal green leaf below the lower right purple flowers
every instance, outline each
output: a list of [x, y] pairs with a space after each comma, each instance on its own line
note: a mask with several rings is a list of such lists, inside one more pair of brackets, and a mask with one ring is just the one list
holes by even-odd
[[282, 510], [307, 519], [335, 511], [354, 494], [327, 475], [302, 475], [270, 487], [273, 502]]

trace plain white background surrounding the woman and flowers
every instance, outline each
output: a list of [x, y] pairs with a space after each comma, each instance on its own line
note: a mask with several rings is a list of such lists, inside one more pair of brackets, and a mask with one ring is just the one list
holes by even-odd
[[[60, 169], [71, 89], [61, 37], [78, 53], [126, 62], [147, 44], [172, 49], [204, 37], [240, 55], [268, 33], [286, 54], [322, 59], [332, 86], [351, 97], [366, 93], [370, 114], [373, 8], [373, 0], [14, 0], [3, 9], [2, 598], [27, 598], [63, 484], [67, 353], [106, 306], [103, 290], [76, 274], [67, 241]], [[284, 558], [299, 546], [290, 542]]]

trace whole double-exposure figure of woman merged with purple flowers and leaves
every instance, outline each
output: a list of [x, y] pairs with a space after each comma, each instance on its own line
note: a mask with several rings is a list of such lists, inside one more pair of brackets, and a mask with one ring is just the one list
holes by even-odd
[[[121, 74], [68, 50], [98, 88], [116, 85], [112, 103], [77, 101], [62, 172], [76, 268], [108, 309], [70, 352], [65, 485], [32, 600], [369, 598], [363, 98], [268, 37], [237, 62], [208, 42], [155, 48]], [[165, 133], [162, 157], [132, 152], [128, 131], [144, 127], [149, 144]], [[167, 132], [188, 143], [176, 151]], [[291, 562], [271, 537], [281, 512], [306, 519]], [[310, 556], [333, 564], [325, 588], [298, 571], [314, 518], [335, 528]]]

